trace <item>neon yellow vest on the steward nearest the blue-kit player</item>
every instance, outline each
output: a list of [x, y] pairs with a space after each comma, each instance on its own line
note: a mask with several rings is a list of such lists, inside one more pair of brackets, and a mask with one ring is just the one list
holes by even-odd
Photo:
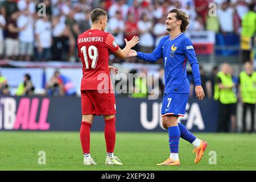
[[[225, 75], [222, 72], [217, 73], [217, 77], [221, 79], [221, 83], [224, 86], [232, 86], [232, 76]], [[218, 84], [215, 85], [215, 92], [214, 92], [214, 100], [220, 100], [222, 104], [234, 104], [237, 102], [236, 93], [233, 92], [232, 88], [230, 89], [220, 89], [218, 88]]]

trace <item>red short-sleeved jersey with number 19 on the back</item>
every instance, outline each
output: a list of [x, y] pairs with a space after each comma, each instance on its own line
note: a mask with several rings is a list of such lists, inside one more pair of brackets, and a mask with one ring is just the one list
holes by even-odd
[[81, 90], [113, 89], [109, 72], [109, 52], [119, 49], [114, 37], [98, 29], [88, 30], [77, 38], [82, 61]]

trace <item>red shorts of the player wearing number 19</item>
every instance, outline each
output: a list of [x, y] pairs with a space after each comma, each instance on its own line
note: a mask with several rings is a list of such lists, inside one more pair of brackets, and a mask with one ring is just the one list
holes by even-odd
[[115, 114], [114, 93], [99, 93], [98, 90], [81, 90], [82, 115]]

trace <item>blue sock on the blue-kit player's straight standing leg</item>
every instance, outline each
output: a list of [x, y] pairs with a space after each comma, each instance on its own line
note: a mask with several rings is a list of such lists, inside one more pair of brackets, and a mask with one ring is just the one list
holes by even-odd
[[168, 127], [169, 146], [171, 153], [179, 153], [180, 129], [179, 126]]

